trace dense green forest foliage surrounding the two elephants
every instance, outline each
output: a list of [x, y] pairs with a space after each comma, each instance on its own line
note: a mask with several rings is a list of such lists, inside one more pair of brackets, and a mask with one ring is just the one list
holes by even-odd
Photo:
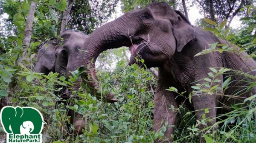
[[[1, 0], [0, 1], [0, 107], [5, 105], [31, 106], [39, 109], [47, 125], [43, 143], [153, 143], [163, 136], [153, 131], [153, 97], [157, 75], [153, 70], [137, 65], [127, 66], [128, 48], [107, 50], [97, 59], [97, 71], [102, 88], [112, 90], [118, 102], [104, 103], [88, 93], [73, 91], [80, 100], [70, 99], [72, 106], [59, 104], [55, 85], [72, 89], [78, 77], [74, 72], [66, 80], [58, 73], [43, 75], [34, 72], [39, 46], [51, 37], [58, 37], [65, 29], [90, 35], [109, 21], [111, 16], [140, 9], [158, 0]], [[195, 25], [212, 31], [236, 44], [256, 58], [256, 2], [254, 0], [161, 0], [189, 17], [188, 9], [197, 6], [201, 16]], [[239, 27], [230, 27], [234, 19]], [[210, 51], [207, 51], [210, 52]], [[155, 69], [157, 70], [157, 69]], [[219, 71], [220, 72], [220, 71]], [[215, 71], [213, 71], [215, 73]], [[216, 71], [218, 74], [218, 71]], [[252, 84], [255, 86], [256, 83]], [[176, 91], [175, 87], [169, 90]], [[219, 125], [215, 135], [207, 136], [207, 143], [255, 143], [256, 95], [247, 109], [235, 108]], [[189, 100], [189, 99], [188, 99]], [[72, 135], [66, 127], [67, 109], [83, 115], [87, 128], [82, 135]], [[194, 113], [180, 106], [173, 138], [175, 143], [198, 143], [198, 124]], [[233, 126], [227, 126], [232, 123]], [[0, 127], [0, 143], [5, 143]]]

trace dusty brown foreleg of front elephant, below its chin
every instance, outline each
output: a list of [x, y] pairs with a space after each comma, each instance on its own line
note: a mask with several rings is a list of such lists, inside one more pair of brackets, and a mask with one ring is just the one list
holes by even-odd
[[177, 112], [170, 109], [171, 106], [175, 109], [178, 107], [178, 103], [175, 100], [175, 93], [166, 91], [165, 89], [158, 89], [154, 96], [154, 131], [159, 132], [166, 122], [168, 125], [164, 132], [166, 139], [161, 138], [157, 142], [169, 143], [172, 141], [171, 135], [174, 132], [174, 128], [171, 126], [175, 125]]

